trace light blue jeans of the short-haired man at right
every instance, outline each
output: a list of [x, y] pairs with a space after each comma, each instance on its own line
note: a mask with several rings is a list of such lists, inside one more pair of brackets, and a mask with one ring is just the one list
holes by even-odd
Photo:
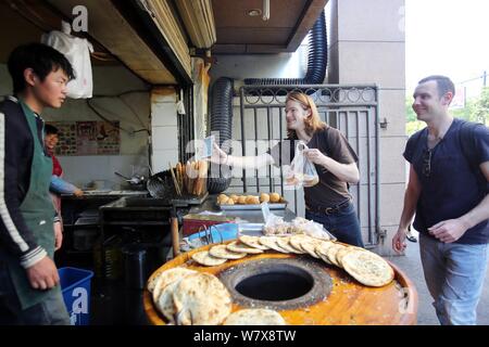
[[488, 244], [442, 243], [419, 233], [423, 271], [440, 324], [477, 324], [488, 249]]

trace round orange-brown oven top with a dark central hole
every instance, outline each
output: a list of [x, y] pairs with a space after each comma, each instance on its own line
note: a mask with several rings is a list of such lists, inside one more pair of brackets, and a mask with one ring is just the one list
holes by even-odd
[[[292, 325], [415, 324], [417, 293], [413, 283], [392, 264], [394, 280], [368, 287], [342, 269], [306, 255], [267, 252], [228, 260], [216, 267], [191, 259], [204, 246], [166, 262], [160, 270], [187, 267], [215, 274], [233, 297], [233, 311], [243, 308], [277, 310]], [[143, 294], [145, 311], [155, 325], [165, 324], [151, 294]]]

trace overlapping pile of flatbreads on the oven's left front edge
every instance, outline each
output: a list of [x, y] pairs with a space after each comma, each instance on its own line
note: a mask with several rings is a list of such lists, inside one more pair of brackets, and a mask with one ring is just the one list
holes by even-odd
[[148, 290], [170, 324], [216, 325], [230, 313], [229, 292], [210, 273], [173, 268], [150, 278]]

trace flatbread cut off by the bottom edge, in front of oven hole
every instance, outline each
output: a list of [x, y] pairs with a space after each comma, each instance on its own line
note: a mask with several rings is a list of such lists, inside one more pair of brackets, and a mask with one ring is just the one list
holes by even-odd
[[287, 325], [287, 323], [277, 311], [259, 308], [233, 312], [223, 325]]

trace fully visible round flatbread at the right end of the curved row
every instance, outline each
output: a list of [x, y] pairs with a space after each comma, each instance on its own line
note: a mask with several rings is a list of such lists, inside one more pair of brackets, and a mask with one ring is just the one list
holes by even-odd
[[368, 286], [384, 286], [394, 278], [390, 265], [368, 250], [354, 250], [342, 258], [344, 270], [356, 281]]

